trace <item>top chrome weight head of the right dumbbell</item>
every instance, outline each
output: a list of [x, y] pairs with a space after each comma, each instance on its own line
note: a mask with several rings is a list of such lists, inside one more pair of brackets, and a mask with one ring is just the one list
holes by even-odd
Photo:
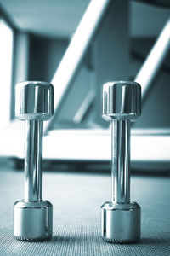
[[105, 120], [129, 119], [141, 114], [141, 87], [136, 82], [110, 82], [103, 86], [102, 117]]

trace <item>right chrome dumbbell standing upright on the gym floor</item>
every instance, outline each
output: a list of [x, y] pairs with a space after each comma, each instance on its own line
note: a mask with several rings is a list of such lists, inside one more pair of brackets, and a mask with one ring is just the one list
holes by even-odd
[[103, 86], [102, 117], [111, 121], [112, 199], [101, 206], [105, 241], [131, 243], [140, 239], [140, 207], [130, 201], [130, 122], [141, 114], [141, 88], [135, 82]]

